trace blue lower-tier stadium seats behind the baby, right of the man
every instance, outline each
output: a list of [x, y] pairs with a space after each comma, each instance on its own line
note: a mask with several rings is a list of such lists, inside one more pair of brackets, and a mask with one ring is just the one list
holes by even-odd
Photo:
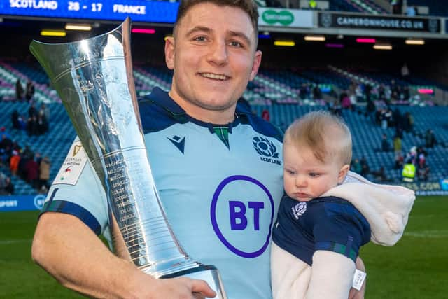
[[[393, 107], [394, 108], [394, 107]], [[309, 111], [325, 109], [325, 106], [300, 106], [296, 104], [282, 104], [271, 106], [255, 106], [255, 111], [260, 115], [263, 109], [270, 113], [271, 122], [286, 130], [288, 124], [296, 118]], [[438, 144], [434, 148], [428, 148], [426, 162], [430, 167], [429, 179], [437, 181], [447, 177], [446, 163], [443, 162], [448, 156], [447, 137], [448, 137], [448, 107], [419, 107], [419, 106], [399, 106], [403, 113], [409, 111], [414, 116], [414, 131], [404, 133], [402, 139], [402, 151], [407, 152], [412, 146], [423, 146], [423, 132], [428, 128], [435, 129], [435, 136]], [[371, 117], [366, 117], [364, 113], [344, 110], [342, 117], [349, 125], [353, 137], [353, 159], [365, 157], [369, 163], [371, 171], [377, 171], [381, 166], [386, 169], [386, 176], [391, 181], [398, 182], [401, 179], [400, 169], [394, 169], [394, 153], [381, 152], [381, 135], [385, 133], [388, 139], [393, 139], [394, 128], [386, 130], [374, 125]], [[376, 180], [372, 174], [367, 176], [369, 179]]]

